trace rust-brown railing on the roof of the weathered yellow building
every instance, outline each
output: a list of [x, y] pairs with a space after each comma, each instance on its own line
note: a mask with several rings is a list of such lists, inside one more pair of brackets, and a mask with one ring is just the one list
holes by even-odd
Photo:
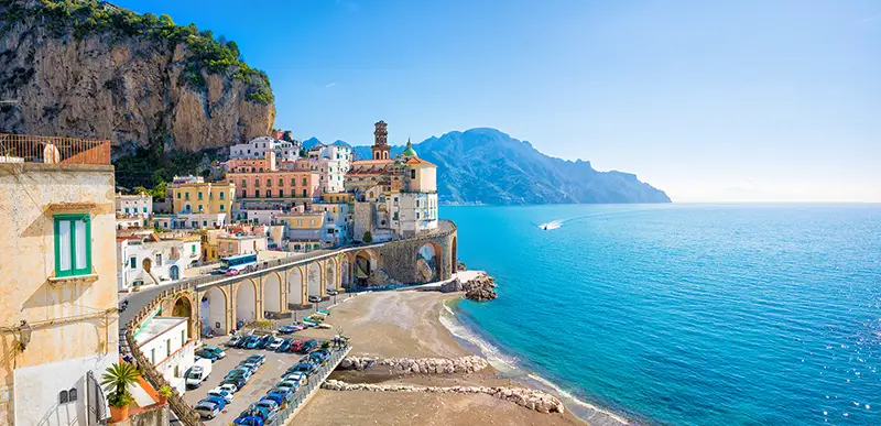
[[0, 133], [0, 163], [110, 164], [110, 141]]

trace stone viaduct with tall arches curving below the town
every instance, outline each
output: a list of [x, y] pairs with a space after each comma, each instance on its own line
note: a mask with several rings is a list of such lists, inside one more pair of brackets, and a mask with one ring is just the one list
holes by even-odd
[[309, 296], [327, 298], [331, 288], [448, 280], [456, 272], [457, 244], [455, 223], [442, 220], [415, 238], [263, 262], [237, 276], [186, 280], [153, 304], [161, 316], [188, 317], [189, 336], [207, 329], [226, 335], [237, 323], [289, 316], [307, 306]]

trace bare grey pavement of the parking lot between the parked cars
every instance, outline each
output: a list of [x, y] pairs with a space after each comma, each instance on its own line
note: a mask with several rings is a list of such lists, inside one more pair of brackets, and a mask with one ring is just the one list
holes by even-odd
[[[312, 336], [311, 336], [312, 335]], [[289, 336], [280, 336], [282, 338], [295, 339], [315, 339], [319, 338], [314, 332], [297, 332]], [[228, 404], [217, 417], [213, 419], [204, 419], [208, 425], [229, 425], [231, 424], [241, 412], [248, 408], [251, 404], [260, 401], [267, 395], [267, 392], [272, 389], [282, 379], [284, 372], [296, 364], [303, 354], [293, 352], [274, 352], [267, 349], [240, 349], [227, 348], [224, 343], [229, 340], [229, 337], [218, 337], [205, 339], [205, 345], [211, 345], [222, 348], [226, 352], [224, 359], [217, 360], [211, 364], [211, 373], [208, 379], [202, 383], [197, 389], [187, 390], [184, 394], [184, 400], [191, 405], [195, 406], [200, 400], [208, 395], [208, 391], [217, 387], [224, 381], [224, 376], [232, 369], [237, 368], [239, 363], [252, 354], [263, 354], [267, 357], [265, 362], [260, 369], [251, 376], [250, 380], [242, 386], [241, 390], [235, 393], [232, 403]]]

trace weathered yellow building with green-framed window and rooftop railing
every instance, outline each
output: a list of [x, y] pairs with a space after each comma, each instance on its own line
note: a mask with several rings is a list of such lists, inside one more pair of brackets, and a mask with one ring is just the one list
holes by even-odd
[[119, 360], [110, 143], [0, 146], [0, 424], [98, 424], [86, 396]]

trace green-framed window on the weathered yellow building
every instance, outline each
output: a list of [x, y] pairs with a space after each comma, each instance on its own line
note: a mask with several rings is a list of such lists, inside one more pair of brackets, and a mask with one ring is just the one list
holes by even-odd
[[89, 216], [55, 216], [55, 276], [90, 273], [91, 223]]

